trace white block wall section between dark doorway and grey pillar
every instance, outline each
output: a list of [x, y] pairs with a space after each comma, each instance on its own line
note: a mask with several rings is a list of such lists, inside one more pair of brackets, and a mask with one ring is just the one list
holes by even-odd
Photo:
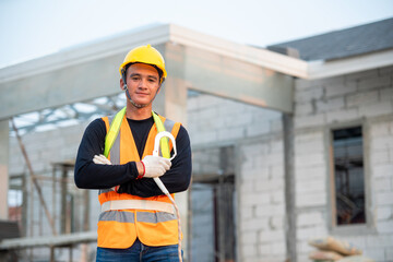
[[241, 145], [239, 179], [240, 261], [284, 261], [285, 198], [281, 140]]

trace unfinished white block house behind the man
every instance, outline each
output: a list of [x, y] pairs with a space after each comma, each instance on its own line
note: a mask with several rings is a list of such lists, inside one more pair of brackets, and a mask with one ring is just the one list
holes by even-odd
[[0, 259], [95, 260], [97, 191], [74, 158], [145, 44], [168, 71], [155, 110], [192, 144], [184, 261], [310, 261], [326, 236], [393, 261], [393, 19], [267, 48], [156, 25], [1, 69]]

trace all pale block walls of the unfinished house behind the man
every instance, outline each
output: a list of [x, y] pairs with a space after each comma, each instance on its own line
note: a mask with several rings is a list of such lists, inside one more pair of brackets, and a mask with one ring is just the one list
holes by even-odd
[[[390, 67], [334, 79], [296, 82], [295, 214], [285, 211], [282, 114], [210, 95], [189, 96], [187, 129], [194, 152], [194, 184], [214, 180], [214, 176], [235, 176], [236, 250], [240, 261], [259, 261], [261, 258], [283, 261], [288, 215], [297, 217], [299, 261], [305, 261], [311, 251], [308, 240], [326, 235], [350, 241], [377, 261], [392, 258], [392, 72]], [[329, 130], [353, 123], [362, 123], [367, 130], [365, 159], [368, 168], [365, 176], [369, 213], [368, 223], [355, 230], [332, 226], [332, 184], [329, 182], [332, 171], [329, 167]], [[23, 136], [36, 174], [50, 175], [53, 163], [73, 159], [85, 126]], [[14, 139], [11, 139], [10, 147], [13, 156], [10, 174], [26, 172]], [[228, 147], [234, 152], [223, 165], [221, 151]], [[43, 181], [43, 187], [50, 194], [50, 183]], [[191, 217], [194, 217], [191, 253], [200, 255], [201, 249], [206, 250], [203, 248], [206, 240], [199, 239], [212, 236], [214, 225], [212, 221], [198, 218], [198, 201], [203, 196], [198, 196], [198, 189], [191, 193], [195, 207], [191, 209]], [[212, 201], [212, 198], [204, 201]], [[36, 206], [36, 212], [29, 216], [34, 222], [29, 227], [33, 235], [50, 234], [39, 203], [33, 205]], [[93, 230], [97, 214], [98, 204], [92, 192], [90, 227]], [[206, 215], [214, 217], [212, 213]], [[38, 223], [39, 217], [44, 217], [44, 223], [43, 219]], [[198, 219], [209, 226], [202, 221], [198, 226]]]

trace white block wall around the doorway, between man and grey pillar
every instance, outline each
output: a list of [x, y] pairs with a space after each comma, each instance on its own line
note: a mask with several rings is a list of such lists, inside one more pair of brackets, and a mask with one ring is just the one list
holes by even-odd
[[[238, 251], [240, 261], [284, 261], [285, 199], [279, 112], [219, 97], [200, 95], [188, 100], [188, 131], [193, 145], [238, 144], [241, 148], [238, 192]], [[274, 138], [274, 139], [271, 139]], [[207, 154], [209, 153], [209, 154]], [[218, 157], [218, 158], [217, 158]], [[196, 151], [193, 172], [219, 169], [219, 152]]]

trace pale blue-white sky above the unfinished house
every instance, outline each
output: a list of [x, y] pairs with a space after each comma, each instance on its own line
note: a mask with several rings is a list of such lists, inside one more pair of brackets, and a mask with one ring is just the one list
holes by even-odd
[[393, 0], [0, 0], [0, 68], [157, 23], [265, 47], [393, 17]]

